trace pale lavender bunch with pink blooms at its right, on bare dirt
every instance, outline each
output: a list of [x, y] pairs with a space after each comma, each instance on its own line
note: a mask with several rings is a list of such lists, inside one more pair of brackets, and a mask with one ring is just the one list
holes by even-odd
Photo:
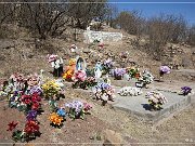
[[89, 112], [89, 110], [92, 108], [92, 106], [89, 105], [88, 103], [82, 103], [80, 101], [74, 101], [72, 103], [67, 103], [65, 104], [65, 107], [69, 108], [68, 116], [74, 120], [77, 118], [83, 119], [84, 114]]

